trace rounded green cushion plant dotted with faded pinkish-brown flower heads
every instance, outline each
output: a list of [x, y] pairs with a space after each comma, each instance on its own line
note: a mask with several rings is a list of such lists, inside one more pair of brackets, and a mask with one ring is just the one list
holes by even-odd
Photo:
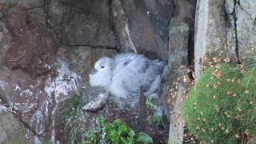
[[183, 103], [186, 126], [198, 140], [238, 143], [256, 136], [256, 70], [238, 66], [209, 67]]

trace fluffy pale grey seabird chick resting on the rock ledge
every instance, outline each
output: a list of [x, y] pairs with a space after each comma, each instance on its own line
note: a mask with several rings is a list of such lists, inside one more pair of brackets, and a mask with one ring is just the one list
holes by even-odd
[[140, 86], [150, 96], [158, 90], [164, 62], [151, 60], [143, 54], [118, 54], [101, 58], [90, 73], [90, 86], [103, 86], [118, 98], [139, 95]]

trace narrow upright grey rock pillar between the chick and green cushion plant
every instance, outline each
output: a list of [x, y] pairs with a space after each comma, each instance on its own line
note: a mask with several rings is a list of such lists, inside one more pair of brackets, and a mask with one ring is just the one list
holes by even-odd
[[[169, 143], [182, 143], [182, 97], [186, 94], [184, 79], [188, 81], [188, 36], [189, 25], [172, 18], [168, 52], [168, 78], [164, 88], [164, 106], [170, 120]], [[171, 113], [170, 113], [171, 112]]]

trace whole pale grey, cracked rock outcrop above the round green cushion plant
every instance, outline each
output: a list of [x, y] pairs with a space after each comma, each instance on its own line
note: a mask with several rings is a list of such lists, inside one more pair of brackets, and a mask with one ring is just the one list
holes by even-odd
[[198, 1], [195, 23], [195, 74], [202, 70], [203, 56], [223, 53], [233, 62], [253, 58], [255, 6], [252, 0]]

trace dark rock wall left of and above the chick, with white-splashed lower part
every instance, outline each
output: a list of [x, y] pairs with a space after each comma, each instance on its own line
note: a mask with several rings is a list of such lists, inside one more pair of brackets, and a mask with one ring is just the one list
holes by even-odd
[[94, 62], [118, 51], [165, 59], [172, 13], [170, 1], [0, 0], [3, 106], [30, 137], [58, 142], [56, 115], [66, 95], [87, 90]]

